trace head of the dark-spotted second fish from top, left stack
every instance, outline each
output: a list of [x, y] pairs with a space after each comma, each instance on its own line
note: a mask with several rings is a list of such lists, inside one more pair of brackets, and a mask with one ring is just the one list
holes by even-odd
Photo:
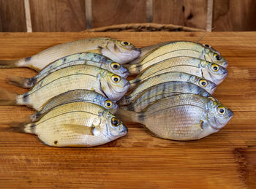
[[127, 68], [121, 65], [121, 63], [109, 61], [108, 63], [105, 63], [106, 69], [108, 69], [113, 74], [117, 74], [118, 76], [127, 78], [129, 75], [129, 71]]

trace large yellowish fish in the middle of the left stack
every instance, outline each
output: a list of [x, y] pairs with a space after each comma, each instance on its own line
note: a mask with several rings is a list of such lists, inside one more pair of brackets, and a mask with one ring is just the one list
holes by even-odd
[[75, 65], [49, 74], [27, 93], [16, 94], [0, 89], [0, 105], [26, 105], [40, 111], [54, 96], [76, 89], [94, 90], [117, 101], [128, 88], [129, 82], [112, 72], [96, 66]]

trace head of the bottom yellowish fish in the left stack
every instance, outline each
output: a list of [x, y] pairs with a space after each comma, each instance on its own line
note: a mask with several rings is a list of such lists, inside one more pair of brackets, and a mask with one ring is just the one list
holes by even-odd
[[106, 126], [108, 130], [108, 137], [111, 139], [118, 139], [128, 133], [128, 129], [124, 123], [115, 115], [108, 112], [105, 116]]

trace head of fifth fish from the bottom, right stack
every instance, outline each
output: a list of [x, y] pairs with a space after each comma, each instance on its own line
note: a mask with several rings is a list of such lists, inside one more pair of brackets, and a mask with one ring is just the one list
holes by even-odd
[[225, 58], [222, 57], [222, 55], [220, 55], [220, 53], [217, 50], [211, 50], [211, 49], [205, 48], [204, 57], [206, 61], [217, 63], [220, 66], [227, 68], [227, 65], [228, 65], [227, 61], [225, 60]]

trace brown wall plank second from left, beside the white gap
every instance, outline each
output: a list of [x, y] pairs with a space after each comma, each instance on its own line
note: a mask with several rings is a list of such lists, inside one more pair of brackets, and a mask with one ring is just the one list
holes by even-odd
[[83, 31], [86, 29], [84, 0], [30, 0], [33, 31]]

